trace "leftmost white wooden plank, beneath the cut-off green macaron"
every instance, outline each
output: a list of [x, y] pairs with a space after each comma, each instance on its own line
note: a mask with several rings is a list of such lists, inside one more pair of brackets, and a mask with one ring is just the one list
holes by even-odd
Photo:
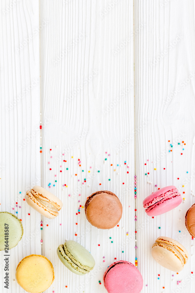
[[23, 201], [26, 190], [41, 183], [39, 1], [3, 0], [0, 11], [0, 210], [17, 215], [24, 228], [22, 240], [10, 250], [9, 289], [4, 288], [1, 251], [0, 288], [18, 293], [24, 292], [15, 281], [19, 261], [42, 253], [41, 216]]

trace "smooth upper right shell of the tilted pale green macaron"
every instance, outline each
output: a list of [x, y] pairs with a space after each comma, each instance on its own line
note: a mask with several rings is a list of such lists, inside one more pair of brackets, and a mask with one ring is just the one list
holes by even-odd
[[68, 240], [64, 243], [65, 252], [76, 264], [85, 270], [92, 270], [95, 266], [95, 260], [91, 253], [76, 241]]

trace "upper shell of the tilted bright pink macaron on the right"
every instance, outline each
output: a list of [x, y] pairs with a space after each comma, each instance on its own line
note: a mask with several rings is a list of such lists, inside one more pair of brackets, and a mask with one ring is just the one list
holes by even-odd
[[144, 199], [143, 206], [147, 208], [153, 205], [155, 202], [161, 200], [166, 195], [171, 195], [174, 192], [178, 192], [177, 188], [174, 185], [165, 186], [159, 190], [156, 190]]

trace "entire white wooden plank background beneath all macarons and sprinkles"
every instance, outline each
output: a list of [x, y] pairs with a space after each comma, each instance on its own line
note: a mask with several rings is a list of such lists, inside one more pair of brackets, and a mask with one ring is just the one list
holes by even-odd
[[[135, 245], [142, 292], [193, 292], [194, 241], [184, 216], [195, 202], [194, 4], [1, 1], [0, 210], [18, 212], [24, 226], [22, 240], [10, 251], [9, 292], [25, 292], [15, 281], [15, 268], [26, 255], [41, 253], [53, 263], [56, 277], [46, 292], [106, 292], [103, 272], [114, 258], [134, 263]], [[36, 184], [63, 201], [56, 219], [41, 217], [23, 201]], [[144, 197], [172, 184], [184, 202], [148, 217]], [[96, 190], [111, 190], [120, 198], [119, 227], [92, 227], [82, 207], [76, 215]], [[178, 275], [151, 257], [158, 236], [172, 237], [189, 251]], [[58, 260], [58, 245], [69, 239], [94, 256], [90, 274], [74, 275]], [[0, 287], [7, 292], [0, 255]]]

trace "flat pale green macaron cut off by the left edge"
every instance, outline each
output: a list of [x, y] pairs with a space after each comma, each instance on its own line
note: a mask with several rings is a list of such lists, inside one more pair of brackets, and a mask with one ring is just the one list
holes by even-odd
[[15, 247], [22, 239], [23, 232], [22, 223], [15, 215], [0, 212], [0, 250]]

